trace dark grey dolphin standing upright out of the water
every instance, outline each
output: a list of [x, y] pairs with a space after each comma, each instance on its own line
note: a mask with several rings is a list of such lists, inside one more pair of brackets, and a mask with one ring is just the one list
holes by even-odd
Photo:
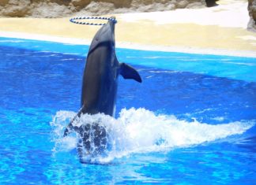
[[[133, 79], [141, 83], [138, 72], [130, 65], [119, 63], [116, 57], [115, 23], [115, 17], [111, 17], [92, 39], [83, 76], [81, 109], [64, 132], [64, 136], [73, 130], [80, 134], [81, 142], [77, 146], [78, 152], [79, 148], [82, 150], [81, 148], [84, 147], [87, 153], [90, 153], [91, 142], [94, 142], [93, 145], [98, 147], [97, 153], [101, 153], [107, 145], [107, 133], [104, 127], [97, 123], [77, 128], [73, 126], [73, 121], [82, 113], [91, 115], [104, 113], [114, 117], [119, 74], [124, 79]], [[89, 139], [88, 134], [92, 131], [94, 132], [93, 141]]]

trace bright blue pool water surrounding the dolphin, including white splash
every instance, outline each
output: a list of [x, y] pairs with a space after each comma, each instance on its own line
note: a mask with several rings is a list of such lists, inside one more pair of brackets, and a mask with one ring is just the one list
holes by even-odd
[[63, 129], [88, 46], [0, 38], [0, 184], [255, 184], [256, 58], [118, 49], [111, 149], [92, 164]]

